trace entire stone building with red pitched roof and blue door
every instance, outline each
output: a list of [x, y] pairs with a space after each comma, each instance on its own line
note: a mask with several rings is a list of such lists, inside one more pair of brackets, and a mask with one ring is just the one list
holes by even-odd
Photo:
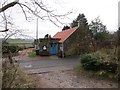
[[57, 55], [65, 57], [78, 55], [89, 51], [91, 38], [84, 33], [84, 29], [79, 26], [56, 33], [52, 38], [40, 38], [35, 40], [39, 46], [40, 55]]

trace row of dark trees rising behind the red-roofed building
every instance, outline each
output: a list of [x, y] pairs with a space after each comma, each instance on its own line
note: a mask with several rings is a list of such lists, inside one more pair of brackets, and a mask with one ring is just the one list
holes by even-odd
[[[84, 35], [82, 35], [83, 37], [88, 37], [89, 34], [89, 38], [91, 38], [91, 42], [94, 42], [93, 46], [96, 50], [103, 47], [112, 48], [117, 45], [118, 32], [109, 32], [106, 25], [103, 24], [99, 17], [95, 18], [90, 24], [88, 24], [85, 15], [83, 13], [79, 14], [70, 25], [65, 25], [62, 31], [77, 26], [80, 27], [81, 32], [84, 32]], [[86, 39], [86, 41], [87, 40], [89, 39]]]

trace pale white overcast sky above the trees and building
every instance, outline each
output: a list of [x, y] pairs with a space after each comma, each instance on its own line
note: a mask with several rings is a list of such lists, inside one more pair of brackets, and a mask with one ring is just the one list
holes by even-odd
[[[63, 23], [69, 24], [74, 20], [79, 13], [84, 13], [88, 22], [90, 23], [96, 17], [100, 17], [103, 24], [111, 32], [116, 31], [118, 27], [118, 1], [119, 0], [46, 0], [50, 7], [57, 10], [57, 12], [66, 13], [73, 10], [73, 13], [68, 18], [62, 20]], [[45, 2], [45, 1], [44, 1]], [[13, 7], [14, 10], [18, 6]], [[18, 8], [20, 9], [20, 8]], [[21, 29], [24, 29], [24, 34], [36, 36], [36, 18], [32, 22], [27, 22], [24, 15], [20, 11], [13, 11], [14, 22]], [[61, 27], [63, 27], [61, 25]], [[62, 28], [56, 27], [48, 21], [39, 20], [39, 38], [44, 37], [46, 34], [53, 36]]]

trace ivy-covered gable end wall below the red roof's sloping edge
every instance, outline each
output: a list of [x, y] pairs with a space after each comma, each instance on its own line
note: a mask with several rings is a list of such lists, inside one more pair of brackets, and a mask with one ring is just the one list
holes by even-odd
[[[89, 31], [78, 28], [65, 42], [65, 56], [80, 55], [92, 51], [93, 43]], [[90, 50], [91, 49], [91, 50]]]

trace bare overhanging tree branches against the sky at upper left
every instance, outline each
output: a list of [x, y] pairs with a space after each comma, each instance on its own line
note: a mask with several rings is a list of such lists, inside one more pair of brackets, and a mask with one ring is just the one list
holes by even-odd
[[[10, 2], [10, 0], [3, 0], [0, 7], [0, 15], [2, 17], [2, 23], [4, 30], [0, 30], [2, 33], [4, 40], [6, 41], [9, 37], [21, 33], [21, 30], [15, 28], [14, 23], [9, 20], [10, 15], [8, 15], [7, 11], [15, 10], [14, 8], [17, 6], [20, 8], [25, 16], [25, 19], [28, 20], [30, 15], [34, 15], [41, 20], [49, 20], [54, 25], [59, 27], [59, 24], [63, 24], [61, 19], [64, 19], [67, 15], [72, 12], [68, 12], [66, 14], [60, 15], [55, 14], [57, 13], [56, 10], [53, 10], [49, 7], [45, 2], [42, 0], [15, 0]], [[1, 24], [0, 22], [0, 24]]]

